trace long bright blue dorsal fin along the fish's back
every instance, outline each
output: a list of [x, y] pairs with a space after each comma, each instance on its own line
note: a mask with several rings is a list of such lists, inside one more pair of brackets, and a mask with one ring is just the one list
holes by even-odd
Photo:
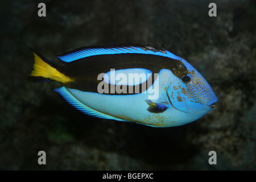
[[61, 61], [65, 63], [70, 63], [75, 60], [79, 60], [89, 56], [97, 55], [112, 55], [117, 53], [144, 53], [151, 55], [159, 55], [165, 57], [171, 57], [172, 59], [180, 60], [179, 56], [174, 55], [173, 53], [167, 51], [163, 48], [154, 48], [152, 46], [142, 46], [139, 44], [120, 44], [115, 46], [89, 46], [81, 47], [73, 51], [69, 51], [62, 55], [58, 55]]

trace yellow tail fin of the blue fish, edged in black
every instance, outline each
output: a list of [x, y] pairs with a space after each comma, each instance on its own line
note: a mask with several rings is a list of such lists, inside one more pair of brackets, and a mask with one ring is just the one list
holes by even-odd
[[47, 81], [48, 79], [51, 79], [63, 84], [65, 82], [72, 81], [71, 78], [57, 71], [57, 69], [52, 66], [53, 64], [49, 64], [50, 62], [44, 59], [44, 57], [39, 56], [39, 54], [34, 51], [33, 53], [35, 57], [35, 64], [34, 70], [31, 72], [30, 77], [43, 77], [44, 79], [39, 79], [38, 81]]

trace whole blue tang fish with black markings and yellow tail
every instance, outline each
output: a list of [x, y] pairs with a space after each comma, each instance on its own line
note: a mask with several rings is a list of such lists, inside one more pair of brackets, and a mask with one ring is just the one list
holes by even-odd
[[55, 91], [94, 117], [172, 127], [201, 118], [217, 102], [204, 77], [163, 48], [82, 47], [57, 56], [63, 66], [33, 53], [30, 80], [60, 82]]

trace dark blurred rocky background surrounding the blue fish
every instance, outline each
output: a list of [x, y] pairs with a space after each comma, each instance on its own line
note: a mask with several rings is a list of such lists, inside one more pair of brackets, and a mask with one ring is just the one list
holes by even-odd
[[[46, 17], [38, 16], [39, 2]], [[217, 17], [208, 16], [210, 2]], [[1, 1], [0, 18], [0, 169], [256, 169], [255, 1]], [[216, 107], [188, 125], [159, 129], [89, 117], [53, 92], [59, 83], [27, 80], [28, 47], [58, 64], [57, 54], [117, 43], [183, 57], [212, 86]]]

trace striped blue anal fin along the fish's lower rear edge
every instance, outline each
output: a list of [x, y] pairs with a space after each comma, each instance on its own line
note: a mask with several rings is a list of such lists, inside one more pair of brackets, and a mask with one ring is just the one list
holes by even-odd
[[116, 117], [113, 117], [112, 115], [101, 113], [100, 111], [94, 110], [77, 100], [76, 97], [74, 97], [65, 86], [61, 88], [54, 89], [55, 92], [59, 93], [66, 101], [69, 102], [72, 106], [74, 106], [76, 109], [82, 111], [85, 114], [92, 115], [94, 117], [103, 118], [103, 119], [113, 119], [117, 121], [125, 121], [123, 119], [119, 119]]

